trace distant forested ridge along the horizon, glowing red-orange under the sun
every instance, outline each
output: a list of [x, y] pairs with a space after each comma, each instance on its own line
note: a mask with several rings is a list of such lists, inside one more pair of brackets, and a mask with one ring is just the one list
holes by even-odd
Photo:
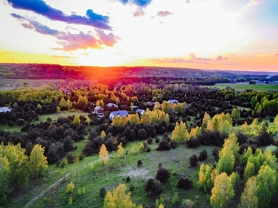
[[[119, 78], [186, 79], [209, 83], [227, 83], [239, 78], [267, 78], [277, 80], [278, 73], [253, 71], [221, 71], [170, 67], [85, 67], [58, 64], [0, 64], [0, 78], [11, 79], [67, 79], [111, 81]], [[211, 84], [213, 84], [211, 83]]]

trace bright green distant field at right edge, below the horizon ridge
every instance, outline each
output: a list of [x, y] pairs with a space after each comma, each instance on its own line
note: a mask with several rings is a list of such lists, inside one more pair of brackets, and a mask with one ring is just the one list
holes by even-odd
[[277, 90], [278, 85], [266, 85], [266, 84], [256, 84], [249, 85], [248, 83], [224, 83], [214, 85], [217, 88], [224, 89], [226, 87], [234, 88], [236, 91], [245, 91], [245, 89], [253, 89], [256, 91], [267, 92], [268, 90]]

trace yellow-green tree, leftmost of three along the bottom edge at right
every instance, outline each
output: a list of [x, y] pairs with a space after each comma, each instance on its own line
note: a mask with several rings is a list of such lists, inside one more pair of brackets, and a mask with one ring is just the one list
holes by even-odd
[[211, 190], [211, 206], [227, 207], [227, 204], [234, 198], [234, 185], [227, 173], [221, 173], [215, 177], [214, 187]]

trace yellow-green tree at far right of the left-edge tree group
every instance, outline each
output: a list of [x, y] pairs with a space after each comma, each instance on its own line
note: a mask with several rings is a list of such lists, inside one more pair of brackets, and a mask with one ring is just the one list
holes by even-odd
[[40, 144], [35, 144], [35, 146], [33, 146], [29, 164], [33, 177], [43, 175], [44, 172], [47, 171], [47, 157], [44, 156], [44, 147]]

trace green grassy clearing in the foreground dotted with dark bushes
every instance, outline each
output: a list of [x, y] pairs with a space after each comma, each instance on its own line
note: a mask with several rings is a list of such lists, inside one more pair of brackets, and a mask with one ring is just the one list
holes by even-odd
[[[130, 150], [133, 144], [139, 145], [142, 141], [130, 142], [124, 147], [124, 150]], [[80, 141], [79, 148], [85, 144]], [[138, 153], [124, 155], [124, 158], [118, 158], [116, 152], [111, 153], [113, 156], [104, 166], [98, 162], [92, 166], [90, 163], [98, 159], [98, 155], [85, 157], [82, 161], [75, 164], [68, 164], [65, 168], [57, 167], [56, 165], [49, 166], [48, 173], [41, 180], [31, 180], [27, 187], [22, 191], [15, 193], [15, 198], [10, 200], [6, 207], [24, 207], [31, 198], [38, 195], [42, 190], [47, 189], [56, 180], [60, 179], [67, 173], [72, 173], [65, 178], [59, 185], [47, 191], [44, 196], [38, 198], [31, 207], [69, 207], [68, 200], [70, 196], [74, 199], [71, 207], [103, 207], [104, 198], [99, 196], [101, 187], [105, 187], [106, 191], [112, 191], [119, 184], [126, 184], [126, 189], [129, 191], [131, 184], [134, 186], [131, 191], [131, 198], [136, 204], [142, 204], [149, 207], [154, 205], [155, 199], [149, 198], [145, 192], [145, 183], [151, 177], [156, 177], [158, 163], [161, 162], [164, 168], [167, 168], [170, 173], [170, 181], [163, 184], [163, 196], [165, 207], [172, 206], [171, 200], [175, 193], [178, 193], [178, 202], [183, 199], [191, 199], [195, 202], [195, 207], [210, 207], [206, 193], [199, 191], [197, 188], [199, 164], [191, 168], [189, 165], [189, 157], [193, 153], [199, 155], [199, 152], [206, 149], [208, 158], [205, 163], [213, 163], [212, 150], [213, 146], [200, 146], [199, 148], [186, 148], [181, 144], [176, 149], [158, 152], [156, 151], [157, 144], [150, 145], [152, 151], [150, 153]], [[79, 150], [80, 151], [80, 150]], [[138, 160], [142, 160], [142, 165], [138, 166]], [[172, 173], [177, 173], [173, 175]], [[130, 182], [126, 182], [126, 177], [131, 178]], [[193, 189], [190, 191], [178, 189], [177, 181], [179, 177], [187, 176], [193, 180]], [[74, 182], [74, 192], [66, 193], [67, 184]], [[78, 189], [85, 187], [85, 193], [81, 196], [78, 194]], [[20, 197], [19, 197], [20, 196]]]

